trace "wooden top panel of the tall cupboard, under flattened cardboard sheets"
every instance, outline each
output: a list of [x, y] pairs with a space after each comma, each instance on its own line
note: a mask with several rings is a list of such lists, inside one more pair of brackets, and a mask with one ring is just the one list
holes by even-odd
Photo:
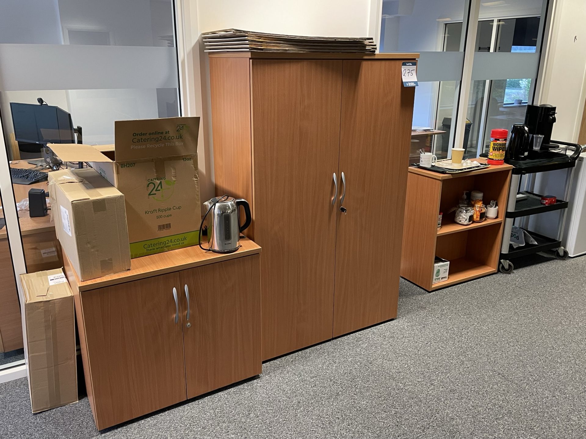
[[250, 59], [335, 59], [335, 60], [413, 60], [419, 58], [415, 52], [409, 53], [335, 53], [335, 52], [208, 52], [210, 58], [250, 58]]

